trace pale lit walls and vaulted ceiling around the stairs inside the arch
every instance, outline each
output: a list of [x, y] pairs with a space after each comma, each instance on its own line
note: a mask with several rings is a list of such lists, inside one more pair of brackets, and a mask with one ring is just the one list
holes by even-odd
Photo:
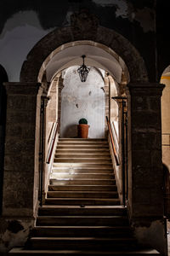
[[[88, 119], [88, 138], [109, 138], [112, 150], [105, 119], [105, 116], [108, 116], [115, 137], [116, 151], [121, 159], [122, 105], [112, 97], [126, 96], [126, 84], [129, 82], [127, 66], [119, 55], [104, 45], [88, 41], [75, 42], [76, 45], [71, 46], [72, 44], [54, 50], [42, 63], [38, 75], [38, 81], [47, 84], [47, 96], [50, 98], [46, 108], [45, 152], [48, 154], [48, 138], [52, 134], [54, 122], [60, 121], [59, 137], [77, 138], [77, 125], [81, 118]], [[82, 65], [81, 55], [84, 53], [87, 56], [85, 64], [90, 67], [90, 72], [87, 81], [82, 83], [77, 68]], [[111, 154], [111, 157], [122, 198], [122, 163], [116, 166], [114, 154]], [[45, 188], [48, 188], [48, 178], [51, 175], [48, 165], [45, 166], [44, 172], [48, 173], [45, 175]]]

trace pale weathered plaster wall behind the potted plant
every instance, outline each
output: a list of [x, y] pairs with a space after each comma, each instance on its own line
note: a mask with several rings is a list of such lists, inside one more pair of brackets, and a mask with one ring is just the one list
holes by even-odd
[[64, 74], [60, 137], [77, 137], [78, 121], [82, 118], [87, 119], [90, 125], [88, 137], [105, 137], [104, 80], [98, 71], [91, 67], [87, 81], [82, 83], [77, 68], [69, 67]]

